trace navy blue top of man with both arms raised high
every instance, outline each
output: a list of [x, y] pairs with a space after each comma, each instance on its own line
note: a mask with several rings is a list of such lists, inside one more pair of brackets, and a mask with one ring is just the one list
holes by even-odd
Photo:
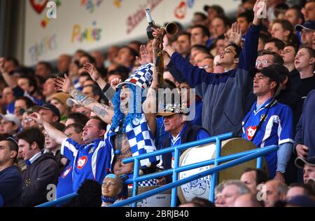
[[[202, 127], [211, 135], [230, 131], [241, 135], [241, 121], [246, 114], [246, 95], [249, 93], [246, 89], [248, 69], [255, 67], [259, 32], [259, 26], [252, 25], [248, 29], [238, 67], [223, 74], [207, 73], [191, 65], [179, 53], [172, 55], [171, 62], [204, 101]], [[174, 77], [177, 79], [178, 76]]]

